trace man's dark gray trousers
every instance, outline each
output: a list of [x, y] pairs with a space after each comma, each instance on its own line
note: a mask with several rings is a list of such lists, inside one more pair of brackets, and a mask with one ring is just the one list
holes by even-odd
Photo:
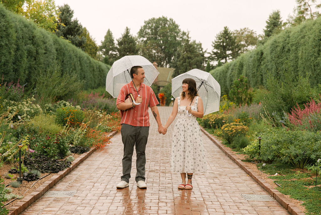
[[121, 180], [129, 183], [130, 170], [132, 168], [132, 156], [135, 145], [137, 170], [135, 181], [145, 181], [145, 149], [149, 134], [149, 127], [123, 124], [121, 126], [120, 132], [124, 144], [124, 157], [122, 160], [123, 176], [121, 176]]

